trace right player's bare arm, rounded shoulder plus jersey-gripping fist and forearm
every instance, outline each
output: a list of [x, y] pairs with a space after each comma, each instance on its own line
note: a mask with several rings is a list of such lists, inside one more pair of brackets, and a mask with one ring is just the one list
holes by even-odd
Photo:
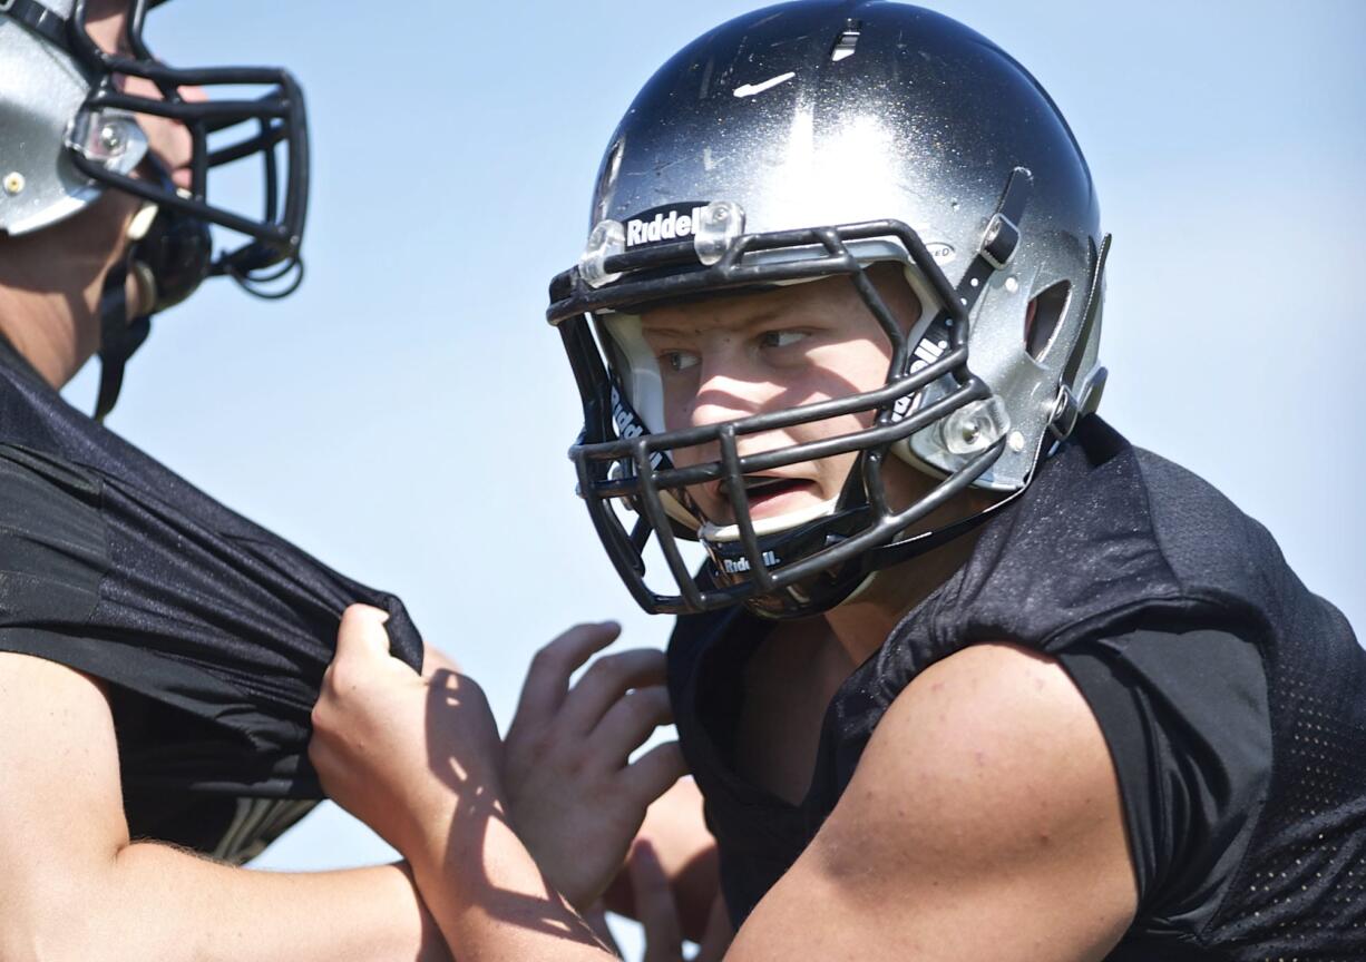
[[[482, 693], [458, 675], [414, 681], [378, 625], [343, 618], [314, 710], [311, 755], [335, 797], [408, 856], [466, 959], [608, 958], [507, 826]], [[1086, 701], [1055, 662], [979, 645], [900, 695], [725, 958], [1091, 962], [1135, 903]]]

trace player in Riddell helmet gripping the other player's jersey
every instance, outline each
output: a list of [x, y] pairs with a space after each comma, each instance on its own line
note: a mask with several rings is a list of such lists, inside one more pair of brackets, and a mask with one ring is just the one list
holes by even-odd
[[[571, 456], [679, 615], [727, 958], [1366, 954], [1366, 654], [1096, 415], [1109, 239], [1019, 63], [900, 4], [740, 16], [631, 104], [591, 218]], [[486, 716], [357, 609], [313, 755], [463, 950], [601, 958]]]

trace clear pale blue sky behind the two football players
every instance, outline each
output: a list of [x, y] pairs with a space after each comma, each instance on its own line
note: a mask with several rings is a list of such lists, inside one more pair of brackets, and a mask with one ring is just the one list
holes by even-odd
[[[574, 497], [578, 396], [544, 322], [650, 72], [735, 0], [178, 0], [176, 65], [307, 91], [309, 277], [206, 287], [156, 322], [111, 426], [332, 566], [396, 591], [511, 716], [531, 652], [634, 610]], [[944, 0], [1024, 63], [1115, 233], [1102, 413], [1214, 482], [1366, 630], [1366, 5]], [[89, 405], [93, 371], [68, 390]], [[382, 857], [331, 806], [260, 864]]]

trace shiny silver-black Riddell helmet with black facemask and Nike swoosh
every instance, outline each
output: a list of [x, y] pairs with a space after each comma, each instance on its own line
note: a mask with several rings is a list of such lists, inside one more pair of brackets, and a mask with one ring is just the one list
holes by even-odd
[[[1023, 490], [1100, 401], [1106, 248], [1061, 113], [960, 23], [878, 0], [805, 0], [686, 46], [613, 134], [587, 246], [552, 282], [548, 311], [583, 396], [579, 493], [632, 595], [652, 611], [826, 610], [966, 529], [906, 535], [953, 494]], [[923, 307], [908, 333], [865, 274], [880, 261], [904, 266]], [[642, 304], [832, 274], [854, 280], [892, 342], [882, 388], [667, 430]], [[874, 412], [873, 426], [739, 454], [736, 438], [850, 412]], [[697, 445], [720, 457], [675, 468], [671, 452]], [[859, 461], [836, 502], [750, 517], [746, 475], [850, 450]], [[892, 508], [888, 454], [940, 484]], [[734, 524], [709, 524], [690, 504], [687, 486], [714, 479]], [[628, 512], [639, 514], [631, 531]], [[652, 536], [676, 591], [646, 583]], [[687, 570], [676, 538], [703, 543], [708, 570]]]

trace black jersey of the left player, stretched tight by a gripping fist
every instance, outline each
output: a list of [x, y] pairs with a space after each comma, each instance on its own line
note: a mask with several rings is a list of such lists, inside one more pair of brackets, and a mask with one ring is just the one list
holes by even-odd
[[352, 602], [421, 665], [396, 598], [195, 490], [0, 338], [0, 651], [109, 682], [135, 838], [245, 861], [321, 797], [309, 714]]

